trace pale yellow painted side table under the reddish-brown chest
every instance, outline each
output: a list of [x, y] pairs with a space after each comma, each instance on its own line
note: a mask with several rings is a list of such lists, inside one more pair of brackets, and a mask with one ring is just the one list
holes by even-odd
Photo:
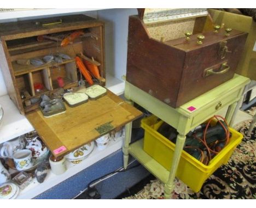
[[169, 171], [143, 151], [142, 139], [130, 145], [131, 123], [126, 124], [126, 137], [123, 146], [124, 168], [127, 167], [129, 154], [132, 155], [150, 173], [165, 183], [165, 198], [170, 198], [171, 192], [174, 189], [173, 181], [186, 139], [185, 135], [213, 115], [218, 114], [225, 107], [228, 107], [225, 119], [230, 124], [238, 101], [241, 99], [243, 89], [249, 81], [249, 78], [235, 74], [229, 81], [220, 84], [218, 87], [178, 108], [172, 108], [129, 82], [125, 82], [126, 99], [130, 100], [131, 103], [136, 102], [147, 109], [147, 111], [156, 115], [156, 117], [164, 120], [167, 124], [177, 129], [179, 134], [173, 160], [170, 161], [172, 166]]

